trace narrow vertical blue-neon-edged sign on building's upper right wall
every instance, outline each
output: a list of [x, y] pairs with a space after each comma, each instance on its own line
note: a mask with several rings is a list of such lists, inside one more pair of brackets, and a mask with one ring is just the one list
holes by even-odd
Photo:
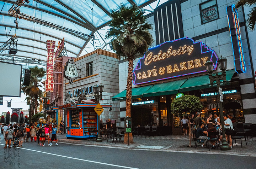
[[235, 5], [233, 4], [232, 6], [226, 7], [226, 13], [228, 17], [231, 42], [233, 45], [235, 70], [238, 73], [245, 73], [244, 52], [242, 48], [238, 12], [237, 9], [235, 9]]

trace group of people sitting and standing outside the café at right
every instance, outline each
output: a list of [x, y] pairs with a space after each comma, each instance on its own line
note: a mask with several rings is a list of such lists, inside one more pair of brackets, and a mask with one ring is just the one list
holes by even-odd
[[[223, 141], [223, 135], [222, 135], [222, 125], [220, 122], [220, 118], [218, 117], [218, 113], [209, 114], [209, 117], [207, 120], [204, 120], [201, 117], [201, 113], [196, 113], [197, 117], [194, 118], [194, 115], [190, 116], [190, 119], [187, 119], [185, 116], [183, 116], [183, 119], [181, 120], [181, 127], [183, 128], [183, 133], [187, 135], [187, 127], [188, 122], [190, 120], [190, 128], [191, 128], [191, 137], [193, 140], [197, 140], [198, 143], [202, 144], [202, 147], [206, 147], [207, 140], [212, 145], [212, 149], [216, 148], [216, 141], [218, 140], [217, 144], [222, 144]], [[233, 134], [233, 123], [235, 122], [233, 117], [224, 114], [224, 126], [225, 126], [225, 138], [226, 141], [229, 143], [229, 146], [232, 147], [232, 139], [231, 135]]]

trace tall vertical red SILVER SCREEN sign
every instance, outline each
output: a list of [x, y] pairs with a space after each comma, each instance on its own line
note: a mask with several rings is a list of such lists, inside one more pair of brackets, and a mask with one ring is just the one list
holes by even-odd
[[47, 64], [46, 64], [46, 81], [45, 87], [46, 92], [53, 92], [53, 57], [54, 57], [54, 48], [55, 41], [47, 40]]

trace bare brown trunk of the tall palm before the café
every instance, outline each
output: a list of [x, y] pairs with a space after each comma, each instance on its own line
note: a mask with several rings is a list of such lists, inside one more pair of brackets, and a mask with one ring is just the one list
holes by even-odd
[[[126, 88], [126, 116], [131, 115], [130, 105], [132, 101], [132, 71], [133, 71], [133, 59], [128, 60], [128, 76], [127, 76], [127, 88]], [[124, 142], [128, 142], [128, 134], [124, 135]], [[129, 142], [133, 142], [132, 133], [129, 133]]]

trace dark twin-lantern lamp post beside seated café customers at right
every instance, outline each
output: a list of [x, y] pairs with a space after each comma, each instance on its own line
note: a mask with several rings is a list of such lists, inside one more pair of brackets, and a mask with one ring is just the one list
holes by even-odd
[[[220, 150], [231, 150], [231, 148], [229, 147], [228, 143], [226, 142], [226, 137], [225, 137], [225, 125], [224, 125], [224, 118], [223, 118], [223, 97], [222, 97], [222, 93], [220, 93], [220, 80], [223, 80], [224, 83], [226, 83], [226, 58], [223, 59], [221, 56], [221, 59], [218, 60], [218, 65], [220, 70], [222, 70], [221, 74], [218, 74], [218, 72], [216, 72], [215, 75], [212, 74], [213, 72], [213, 63], [210, 62], [209, 60], [204, 64], [206, 67], [206, 70], [209, 74], [209, 79], [210, 79], [210, 84], [212, 85], [214, 81], [216, 81], [217, 83], [217, 88], [218, 88], [218, 95], [219, 95], [219, 110], [220, 110], [220, 121], [221, 121], [221, 125], [222, 125], [222, 135], [223, 135], [223, 141], [222, 141], [222, 145], [220, 146]], [[222, 89], [221, 89], [222, 90]]]

